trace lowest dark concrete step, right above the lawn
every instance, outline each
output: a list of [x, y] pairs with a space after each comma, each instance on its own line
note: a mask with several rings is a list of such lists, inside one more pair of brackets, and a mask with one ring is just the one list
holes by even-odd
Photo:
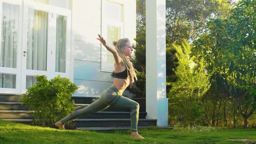
[[[2, 119], [5, 121], [32, 124], [32, 119]], [[105, 118], [105, 119], [76, 119], [73, 121], [76, 128], [102, 128], [102, 127], [131, 127], [128, 118]], [[156, 126], [156, 119], [138, 119], [138, 126]]]

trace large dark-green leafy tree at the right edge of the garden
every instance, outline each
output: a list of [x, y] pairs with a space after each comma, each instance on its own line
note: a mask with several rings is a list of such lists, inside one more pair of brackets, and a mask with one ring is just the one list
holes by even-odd
[[244, 118], [244, 127], [256, 110], [255, 10], [256, 1], [240, 0], [230, 18], [208, 23], [209, 34], [195, 41], [194, 48], [207, 61], [209, 72], [225, 82], [218, 86], [229, 92], [228, 98]]

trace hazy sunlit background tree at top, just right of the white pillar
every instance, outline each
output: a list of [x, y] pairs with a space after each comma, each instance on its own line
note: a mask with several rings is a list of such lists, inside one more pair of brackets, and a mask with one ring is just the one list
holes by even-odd
[[211, 18], [230, 16], [232, 0], [166, 0], [166, 41], [181, 44], [207, 33], [206, 23]]

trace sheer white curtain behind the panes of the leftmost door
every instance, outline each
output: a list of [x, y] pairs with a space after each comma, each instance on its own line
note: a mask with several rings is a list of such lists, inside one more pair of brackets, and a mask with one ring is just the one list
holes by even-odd
[[[3, 3], [0, 67], [16, 68], [19, 7]], [[1, 88], [16, 88], [16, 75], [0, 74]]]

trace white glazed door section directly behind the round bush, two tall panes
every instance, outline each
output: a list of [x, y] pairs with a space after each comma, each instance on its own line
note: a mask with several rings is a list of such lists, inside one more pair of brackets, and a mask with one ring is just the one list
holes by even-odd
[[36, 83], [35, 75], [69, 78], [70, 10], [43, 3], [23, 2], [21, 93]]

